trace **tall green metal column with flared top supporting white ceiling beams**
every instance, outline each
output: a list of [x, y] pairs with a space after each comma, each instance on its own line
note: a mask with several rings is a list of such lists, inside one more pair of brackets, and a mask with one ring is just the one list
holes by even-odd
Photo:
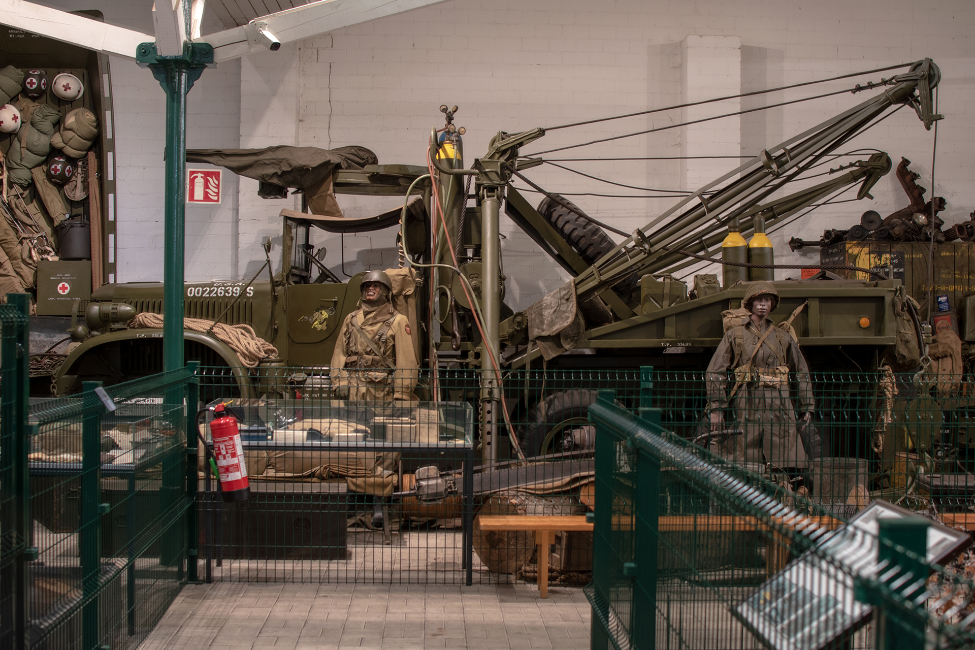
[[[183, 256], [186, 202], [186, 94], [214, 63], [209, 43], [187, 43], [183, 54], [164, 57], [155, 43], [136, 48], [136, 62], [166, 91], [166, 247], [163, 262], [163, 369], [183, 365]], [[181, 400], [182, 396], [179, 396]], [[170, 400], [167, 400], [170, 401]]]

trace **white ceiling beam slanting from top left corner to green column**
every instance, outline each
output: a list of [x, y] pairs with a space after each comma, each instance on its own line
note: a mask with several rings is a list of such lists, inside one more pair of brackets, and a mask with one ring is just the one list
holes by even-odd
[[[166, 2], [167, 0], [163, 0]], [[26, 0], [0, 0], [0, 24], [116, 57], [135, 60], [139, 43], [155, 37]]]

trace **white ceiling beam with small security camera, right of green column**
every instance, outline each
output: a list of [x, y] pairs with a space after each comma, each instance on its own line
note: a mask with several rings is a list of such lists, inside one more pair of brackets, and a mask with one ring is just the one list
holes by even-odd
[[214, 60], [220, 62], [261, 50], [276, 50], [275, 42], [280, 46], [281, 43], [300, 41], [349, 25], [402, 14], [444, 1], [319, 0], [256, 18], [242, 27], [225, 29], [194, 40], [214, 46]]

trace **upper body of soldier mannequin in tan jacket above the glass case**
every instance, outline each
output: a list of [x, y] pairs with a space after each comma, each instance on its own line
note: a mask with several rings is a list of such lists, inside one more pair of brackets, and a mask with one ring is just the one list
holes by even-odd
[[338, 400], [411, 400], [419, 363], [407, 317], [393, 308], [393, 283], [370, 271], [359, 285], [361, 308], [345, 317], [331, 356], [332, 394]]

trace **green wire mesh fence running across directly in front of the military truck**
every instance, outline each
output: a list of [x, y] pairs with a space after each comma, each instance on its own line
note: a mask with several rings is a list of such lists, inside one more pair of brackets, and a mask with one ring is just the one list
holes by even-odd
[[[253, 485], [250, 502], [223, 504], [215, 481], [201, 482], [201, 554], [213, 580], [535, 582], [546, 557], [533, 533], [486, 531], [482, 517], [592, 511], [597, 437], [587, 411], [600, 390], [612, 390], [615, 403], [633, 412], [641, 403], [660, 408], [662, 426], [677, 437], [838, 520], [883, 499], [965, 524], [975, 491], [967, 402], [914, 375], [792, 373], [781, 385], [754, 378], [735, 389], [733, 374], [703, 371], [506, 371], [502, 407], [509, 417], [499, 423], [501, 447], [490, 462], [481, 446], [484, 395], [476, 370], [421, 371], [407, 402], [334, 400], [328, 368], [244, 375], [203, 368], [201, 375], [208, 403], [228, 401], [245, 413]], [[805, 404], [802, 390], [810, 396]], [[441, 415], [431, 418], [437, 409]], [[463, 433], [430, 426], [446, 423], [447, 411], [464, 422]], [[715, 422], [713, 413], [720, 415]], [[375, 475], [392, 486], [384, 483], [378, 494], [359, 480]], [[709, 507], [670, 476], [662, 489], [674, 514]], [[730, 553], [728, 544], [743, 544], [736, 531], [705, 539], [697, 552], [715, 562]], [[592, 534], [556, 531], [547, 559], [553, 585], [588, 582]], [[762, 561], [753, 574], [764, 571]]]

